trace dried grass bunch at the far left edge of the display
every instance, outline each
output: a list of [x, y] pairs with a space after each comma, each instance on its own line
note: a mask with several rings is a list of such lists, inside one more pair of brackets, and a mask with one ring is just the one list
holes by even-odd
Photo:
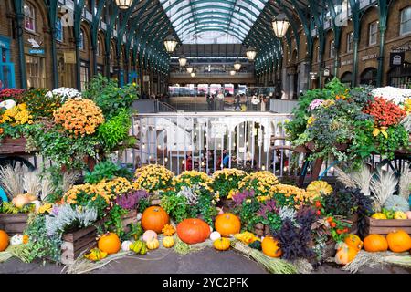
[[20, 166], [13, 168], [9, 165], [0, 167], [0, 185], [10, 200], [24, 193], [23, 169]]

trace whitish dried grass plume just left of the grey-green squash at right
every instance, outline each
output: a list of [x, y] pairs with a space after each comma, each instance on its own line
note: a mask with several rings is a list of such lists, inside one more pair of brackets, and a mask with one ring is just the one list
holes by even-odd
[[382, 207], [386, 199], [395, 193], [398, 179], [395, 177], [395, 172], [391, 169], [383, 171], [381, 167], [377, 167], [375, 176], [371, 180], [371, 191], [374, 193], [377, 203]]

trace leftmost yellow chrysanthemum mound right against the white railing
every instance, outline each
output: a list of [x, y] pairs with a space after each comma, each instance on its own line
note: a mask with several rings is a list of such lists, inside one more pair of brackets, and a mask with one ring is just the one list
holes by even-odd
[[142, 166], [135, 172], [134, 189], [146, 190], [149, 193], [165, 191], [172, 185], [174, 173], [167, 170], [163, 165], [149, 164]]

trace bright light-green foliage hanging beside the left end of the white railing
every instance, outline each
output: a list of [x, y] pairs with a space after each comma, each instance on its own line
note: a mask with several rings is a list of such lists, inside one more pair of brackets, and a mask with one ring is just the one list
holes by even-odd
[[114, 150], [122, 141], [129, 137], [132, 127], [132, 116], [130, 110], [121, 109], [119, 113], [107, 120], [99, 127], [98, 136], [103, 141], [106, 151]]

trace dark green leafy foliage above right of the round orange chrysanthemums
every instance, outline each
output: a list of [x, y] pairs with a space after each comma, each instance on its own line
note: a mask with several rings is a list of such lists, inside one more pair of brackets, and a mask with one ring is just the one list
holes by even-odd
[[116, 116], [120, 109], [129, 109], [134, 100], [139, 98], [135, 84], [119, 88], [117, 81], [100, 74], [91, 79], [83, 97], [94, 100], [107, 120]]

